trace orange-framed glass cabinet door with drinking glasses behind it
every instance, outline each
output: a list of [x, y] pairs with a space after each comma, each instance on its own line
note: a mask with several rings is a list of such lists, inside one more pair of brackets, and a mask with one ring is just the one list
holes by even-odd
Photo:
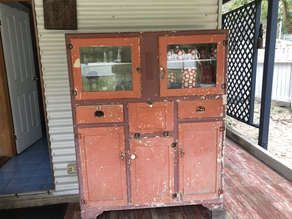
[[139, 38], [71, 39], [76, 100], [140, 98]]

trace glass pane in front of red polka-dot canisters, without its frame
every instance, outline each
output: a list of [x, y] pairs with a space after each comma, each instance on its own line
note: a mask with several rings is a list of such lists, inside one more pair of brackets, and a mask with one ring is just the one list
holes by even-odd
[[167, 45], [167, 89], [215, 87], [217, 43]]

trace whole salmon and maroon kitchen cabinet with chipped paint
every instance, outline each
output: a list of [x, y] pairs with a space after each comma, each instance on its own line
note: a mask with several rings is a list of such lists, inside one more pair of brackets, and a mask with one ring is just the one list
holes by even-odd
[[228, 30], [65, 39], [82, 218], [192, 204], [225, 218]]

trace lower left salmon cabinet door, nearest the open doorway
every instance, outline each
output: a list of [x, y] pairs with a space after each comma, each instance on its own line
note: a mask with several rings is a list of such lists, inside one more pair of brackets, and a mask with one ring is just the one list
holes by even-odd
[[124, 127], [78, 131], [86, 207], [127, 205]]

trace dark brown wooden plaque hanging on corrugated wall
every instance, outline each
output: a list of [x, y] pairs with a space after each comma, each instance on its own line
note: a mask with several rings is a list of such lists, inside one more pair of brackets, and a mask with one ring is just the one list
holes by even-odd
[[48, 30], [77, 30], [76, 0], [43, 0]]

